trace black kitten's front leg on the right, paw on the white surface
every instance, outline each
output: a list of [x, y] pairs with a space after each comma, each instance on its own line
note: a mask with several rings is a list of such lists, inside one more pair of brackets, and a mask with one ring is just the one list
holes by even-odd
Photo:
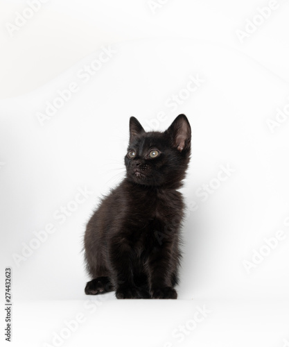
[[152, 251], [148, 259], [150, 292], [152, 298], [176, 299], [177, 291], [173, 288], [173, 272], [176, 262], [171, 251], [171, 243], [164, 243]]

